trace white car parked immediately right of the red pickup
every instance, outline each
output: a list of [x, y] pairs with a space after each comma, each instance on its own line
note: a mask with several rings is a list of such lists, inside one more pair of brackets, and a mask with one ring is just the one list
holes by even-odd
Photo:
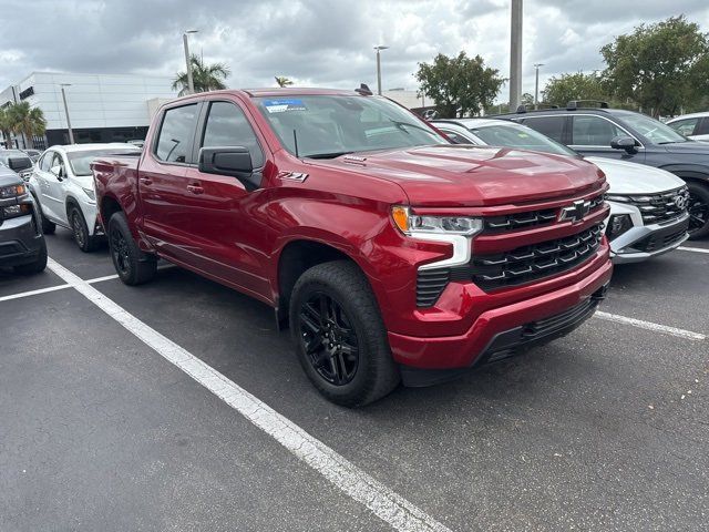
[[[514, 122], [459, 119], [431, 122], [455, 143], [506, 146], [579, 157], [572, 149]], [[606, 236], [616, 264], [637, 263], [679, 247], [687, 238], [689, 195], [682, 180], [660, 168], [603, 157], [598, 166], [610, 188]]]

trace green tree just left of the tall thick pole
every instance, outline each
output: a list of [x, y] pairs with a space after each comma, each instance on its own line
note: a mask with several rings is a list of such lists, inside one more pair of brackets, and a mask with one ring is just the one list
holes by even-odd
[[505, 81], [499, 70], [485, 66], [483, 58], [469, 58], [465, 52], [454, 58], [439, 53], [432, 64], [419, 63], [414, 75], [421, 93], [446, 119], [479, 114], [492, 105]]

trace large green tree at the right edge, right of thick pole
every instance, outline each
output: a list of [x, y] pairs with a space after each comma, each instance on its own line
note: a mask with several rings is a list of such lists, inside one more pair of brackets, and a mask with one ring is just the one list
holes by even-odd
[[640, 24], [600, 49], [614, 95], [655, 116], [677, 114], [709, 94], [709, 41], [685, 16]]

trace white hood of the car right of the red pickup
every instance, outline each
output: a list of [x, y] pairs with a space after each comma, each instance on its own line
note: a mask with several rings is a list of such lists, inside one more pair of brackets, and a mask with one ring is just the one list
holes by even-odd
[[584, 157], [598, 166], [610, 185], [609, 194], [654, 194], [674, 191], [685, 182], [666, 170], [604, 157]]

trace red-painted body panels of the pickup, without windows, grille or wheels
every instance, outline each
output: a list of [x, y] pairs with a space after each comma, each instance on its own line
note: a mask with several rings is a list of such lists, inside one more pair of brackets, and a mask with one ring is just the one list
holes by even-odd
[[[111, 198], [122, 206], [144, 250], [271, 306], [278, 305], [278, 262], [286, 245], [315, 241], [339, 249], [367, 275], [394, 358], [417, 367], [467, 366], [496, 332], [557, 314], [608, 282], [612, 267], [604, 238], [596, 256], [571, 272], [492, 294], [470, 282], [453, 282], [434, 307], [417, 308], [418, 267], [451, 256], [451, 246], [402, 235], [391, 222], [392, 205], [438, 214], [507, 214], [596, 196], [607, 188], [605, 177], [573, 157], [454, 145], [376, 152], [362, 155], [361, 162], [301, 161], [281, 147], [251, 100], [297, 94], [353, 95], [297, 89], [219, 91], [169, 104], [218, 99], [239, 105], [266, 156], [260, 188], [247, 192], [234, 177], [157, 161], [152, 147], [160, 122], [154, 122], [140, 161], [94, 163], [99, 204]], [[308, 177], [282, 178], [287, 173]], [[563, 222], [479, 235], [473, 253], [567, 236], [606, 213], [604, 207], [577, 225]]]

